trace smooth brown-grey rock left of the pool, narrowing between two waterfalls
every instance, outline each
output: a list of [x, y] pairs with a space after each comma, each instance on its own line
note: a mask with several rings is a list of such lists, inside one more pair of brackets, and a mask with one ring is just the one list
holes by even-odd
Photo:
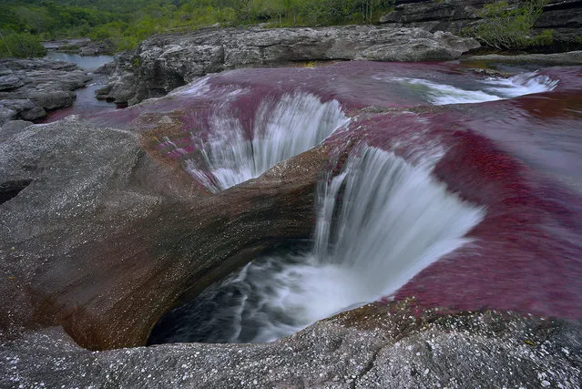
[[209, 196], [136, 133], [73, 118], [26, 128], [0, 144], [0, 185], [29, 182], [0, 204], [0, 328], [61, 324], [91, 349], [145, 343], [184, 291], [309, 237], [326, 158], [311, 151], [295, 159], [301, 171]]

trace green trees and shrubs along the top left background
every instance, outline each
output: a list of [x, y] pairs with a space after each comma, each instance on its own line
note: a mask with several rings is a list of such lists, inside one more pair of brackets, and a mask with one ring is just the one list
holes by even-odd
[[216, 24], [373, 23], [393, 0], [0, 0], [0, 6], [0, 56], [34, 56], [39, 39], [88, 36], [123, 50], [155, 33]]

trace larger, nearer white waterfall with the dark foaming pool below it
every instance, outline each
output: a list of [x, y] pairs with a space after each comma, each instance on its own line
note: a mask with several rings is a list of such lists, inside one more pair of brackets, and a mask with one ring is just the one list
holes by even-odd
[[389, 296], [469, 240], [485, 216], [391, 152], [364, 147], [322, 180], [309, 251], [250, 262], [168, 313], [150, 343], [270, 342]]

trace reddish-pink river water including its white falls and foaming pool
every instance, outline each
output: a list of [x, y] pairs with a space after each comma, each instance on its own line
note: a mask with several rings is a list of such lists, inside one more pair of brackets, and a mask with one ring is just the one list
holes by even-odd
[[[329, 277], [337, 276], [339, 282], [345, 282], [341, 285], [342, 291], [352, 291], [352, 283], [365, 278], [362, 274], [366, 272], [358, 271], [358, 267], [368, 266], [371, 258], [374, 261], [385, 259], [393, 263], [392, 267], [387, 267], [385, 273], [378, 269], [373, 273], [380, 272], [386, 280], [392, 280], [391, 277], [397, 280], [362, 296], [381, 298], [389, 294], [395, 299], [415, 296], [424, 306], [459, 310], [491, 308], [582, 318], [581, 90], [580, 67], [524, 71], [516, 77], [506, 78], [485, 76], [454, 63], [349, 62], [314, 68], [255, 68], [225, 72], [200, 79], [168, 97], [139, 107], [94, 115], [90, 119], [106, 125], [130, 127], [132, 120], [144, 114], [161, 117], [173, 113], [175, 118], [178, 113], [179, 130], [160, 140], [158, 152], [204, 172], [209, 183], [216, 183], [220, 174], [228, 175], [231, 171], [225, 168], [226, 165], [220, 165], [220, 161], [212, 159], [216, 152], [209, 151], [206, 144], [220, 140], [224, 142], [220, 143], [221, 148], [238, 150], [225, 157], [234, 160], [231, 165], [250, 163], [256, 166], [261, 157], [253, 154], [254, 148], [249, 148], [249, 145], [255, 145], [256, 139], [268, 138], [265, 134], [273, 131], [274, 134], [279, 134], [276, 131], [300, 131], [286, 127], [285, 118], [289, 118], [290, 123], [302, 120], [301, 112], [306, 112], [307, 106], [290, 103], [289, 109], [299, 112], [286, 117], [287, 114], [279, 113], [281, 101], [296, 102], [301, 98], [308, 101], [308, 97], [313, 97], [315, 102], [309, 100], [309, 104], [319, 104], [320, 111], [317, 112], [323, 112], [317, 119], [321, 123], [315, 127], [321, 129], [323, 124], [332, 127], [323, 141], [335, 152], [350, 148], [352, 153], [367, 156], [360, 162], [356, 160], [359, 157], [354, 157], [350, 162], [352, 165], [341, 167], [336, 172], [337, 191], [333, 192], [328, 185], [327, 189], [320, 189], [320, 199], [333, 192], [335, 194], [328, 199], [331, 207], [345, 208], [342, 204], [345, 204], [346, 193], [350, 193], [347, 188], [363, 182], [358, 179], [350, 181], [350, 174], [363, 177], [370, 169], [377, 169], [383, 173], [373, 176], [370, 182], [377, 182], [378, 188], [388, 190], [393, 190], [394, 185], [408, 188], [404, 191], [405, 196], [398, 191], [393, 196], [399, 196], [400, 209], [418, 211], [402, 215], [396, 207], [391, 210], [393, 213], [386, 215], [388, 218], [393, 215], [398, 222], [383, 226], [386, 220], [378, 220], [378, 226], [373, 227], [376, 230], [366, 230], [376, 223], [370, 221], [373, 216], [369, 216], [372, 218], [368, 220], [370, 222], [365, 220], [368, 216], [363, 221], [360, 217], [359, 230], [343, 227], [343, 230], [351, 231], [350, 236], [342, 235], [342, 226], [338, 225], [342, 220], [328, 220], [332, 231], [326, 232], [323, 254], [322, 250], [317, 250], [321, 234], [317, 232], [319, 225], [315, 226], [314, 248], [303, 254], [309, 260], [300, 261], [301, 271], [307, 268], [311, 271], [311, 265], [329, 271], [327, 266], [330, 263], [337, 265], [330, 259], [330, 253], [336, 252], [332, 246], [341, 246], [355, 256], [362, 256], [355, 260], [342, 257], [338, 266], [342, 269], [349, 267], [351, 277], [326, 273]], [[271, 121], [265, 117], [265, 110], [273, 113]], [[227, 125], [227, 121], [217, 118], [232, 120]], [[232, 132], [217, 136], [224, 128]], [[236, 134], [236, 137], [228, 134]], [[299, 134], [301, 136], [301, 131]], [[233, 146], [230, 138], [237, 138], [239, 143]], [[321, 139], [316, 142], [319, 141]], [[369, 148], [373, 150], [366, 151]], [[243, 155], [242, 159], [237, 159], [239, 154]], [[373, 163], [379, 160], [384, 164], [382, 169], [373, 167]], [[391, 166], [397, 166], [397, 171]], [[426, 172], [425, 176], [423, 172]], [[252, 174], [260, 174], [260, 171]], [[385, 176], [392, 180], [383, 182]], [[193, 179], [197, 177], [193, 175]], [[430, 181], [431, 184], [423, 186], [420, 181]], [[328, 184], [332, 183], [333, 179], [328, 179]], [[433, 189], [434, 196], [444, 196], [441, 187], [446, 196], [454, 200], [424, 199], [424, 193]], [[353, 189], [354, 196], [362, 195], [356, 192]], [[370, 196], [379, 197], [380, 194], [372, 190]], [[418, 204], [424, 200], [428, 202]], [[362, 212], [369, 213], [376, 210], [375, 207], [388, 209], [394, 206], [394, 200], [386, 198], [382, 204], [370, 202], [370, 208]], [[322, 203], [317, 206], [319, 220], [323, 218], [324, 209]], [[337, 217], [340, 208], [337, 210], [331, 214]], [[458, 216], [454, 212], [458, 212]], [[354, 212], [345, 210], [344, 213], [346, 225], [353, 225], [353, 219], [349, 218]], [[454, 217], [446, 221], [448, 224], [435, 221], [447, 220], [450, 215]], [[455, 220], [466, 222], [462, 227], [452, 228]], [[384, 235], [375, 235], [382, 230]], [[441, 230], [446, 233], [441, 233]], [[452, 235], [446, 235], [449, 232]], [[427, 234], [435, 238], [427, 240]], [[426, 245], [426, 251], [414, 254], [422, 257], [417, 261], [413, 251], [408, 252], [405, 248], [393, 251], [392, 247], [379, 246], [373, 251], [358, 246], [370, 236], [377, 236], [379, 240], [393, 239], [393, 246], [408, 242], [412, 247], [421, 241]], [[439, 239], [450, 244], [441, 247]], [[366, 244], [375, 247], [374, 241]], [[291, 268], [301, 273], [298, 268], [293, 268], [298, 261], [295, 258], [290, 261], [290, 267], [283, 266], [288, 270], [285, 277], [292, 273]], [[350, 261], [349, 266], [346, 261]], [[255, 278], [271, 277], [287, 285], [286, 291], [293, 289], [285, 283], [289, 283], [289, 279], [281, 279], [281, 271], [265, 275], [264, 271], [269, 267], [265, 263], [271, 262], [250, 265], [250, 268], [245, 268], [245, 274], [254, 266], [258, 271], [256, 274], [261, 274]], [[407, 263], [411, 264], [410, 269], [406, 268]], [[260, 285], [251, 280], [252, 274], [244, 277], [250, 280], [244, 288]], [[239, 274], [235, 279], [240, 282], [244, 277]], [[318, 277], [312, 278], [322, 283], [322, 276]], [[388, 287], [388, 284], [392, 286]], [[233, 286], [230, 280], [226, 288], [239, 286]], [[276, 289], [275, 286], [272, 288]], [[301, 288], [324, 293], [321, 288], [305, 285]], [[230, 295], [216, 291], [212, 295], [225, 294]], [[257, 300], [266, 301], [263, 297]], [[360, 302], [365, 301], [346, 301], [343, 306], [341, 302], [337, 306], [326, 303], [341, 311]], [[271, 308], [273, 311], [290, 307], [299, 309], [297, 303], [285, 305], [277, 302], [279, 305]], [[232, 308], [233, 312], [240, 312], [237, 311], [240, 307], [237, 307]], [[301, 309], [305, 312], [311, 310]], [[187, 316], [191, 319], [195, 311], [195, 307], [191, 308]], [[270, 316], [269, 312], [262, 313], [265, 317]], [[230, 313], [220, 314], [230, 317]], [[176, 318], [179, 314], [174, 316], [174, 322], [182, 320]], [[286, 327], [281, 324], [278, 328], [285, 329], [265, 337], [258, 336], [260, 330], [255, 328], [247, 330], [253, 336], [238, 341], [271, 339], [308, 324], [285, 324]], [[260, 327], [262, 324], [254, 322], [252, 325]], [[273, 326], [272, 322], [269, 326]], [[232, 331], [241, 332], [240, 328]], [[206, 335], [208, 333], [203, 336]], [[220, 339], [233, 341], [230, 335]]]

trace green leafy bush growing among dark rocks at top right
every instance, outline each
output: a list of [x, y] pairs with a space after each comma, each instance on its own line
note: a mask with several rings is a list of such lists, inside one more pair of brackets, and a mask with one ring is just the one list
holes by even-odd
[[485, 23], [472, 35], [486, 46], [497, 49], [522, 49], [531, 46], [549, 46], [553, 43], [553, 31], [545, 30], [534, 36], [533, 27], [548, 0], [527, 0], [512, 8], [506, 1], [485, 5], [480, 16]]

